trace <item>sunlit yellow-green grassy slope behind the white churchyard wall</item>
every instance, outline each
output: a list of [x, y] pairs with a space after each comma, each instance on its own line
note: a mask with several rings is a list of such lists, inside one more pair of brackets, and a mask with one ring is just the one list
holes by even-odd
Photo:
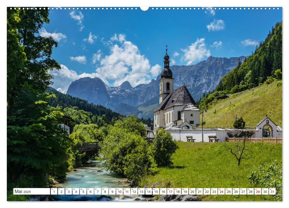
[[204, 125], [232, 126], [237, 115], [244, 119], [246, 126], [255, 126], [265, 114], [268, 114], [276, 125], [282, 125], [282, 86], [277, 87], [274, 82], [253, 89], [254, 93], [246, 90], [242, 94], [236, 93], [233, 97], [220, 100], [204, 113]]

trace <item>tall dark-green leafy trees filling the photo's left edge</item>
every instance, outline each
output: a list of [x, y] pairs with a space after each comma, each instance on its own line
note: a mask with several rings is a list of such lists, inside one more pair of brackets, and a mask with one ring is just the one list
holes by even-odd
[[30, 187], [44, 187], [47, 175], [63, 179], [68, 168], [71, 140], [58, 125], [62, 113], [47, 102], [53, 95], [45, 92], [52, 78], [48, 71], [60, 65], [51, 59], [57, 42], [38, 35], [44, 22], [49, 23], [47, 8], [7, 8], [8, 184], [22, 177]]

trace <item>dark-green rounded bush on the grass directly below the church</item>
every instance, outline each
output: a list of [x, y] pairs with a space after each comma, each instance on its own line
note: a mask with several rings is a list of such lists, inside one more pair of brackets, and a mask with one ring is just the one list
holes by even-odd
[[158, 167], [167, 167], [173, 165], [171, 156], [178, 149], [176, 141], [171, 134], [164, 129], [157, 131], [152, 146], [154, 162]]

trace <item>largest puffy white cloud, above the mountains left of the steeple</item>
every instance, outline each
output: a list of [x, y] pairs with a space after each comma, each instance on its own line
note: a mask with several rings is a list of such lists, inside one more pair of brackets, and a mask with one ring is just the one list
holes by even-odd
[[[156, 76], [158, 66], [151, 69], [149, 60], [140, 54], [138, 47], [125, 40], [124, 34], [115, 34], [109, 41], [101, 40], [110, 46], [110, 55], [100, 59], [100, 65], [96, 68], [103, 81], [114, 80], [113, 86], [119, 86], [124, 81], [129, 81], [132, 86], [149, 83], [150, 75]], [[113, 44], [112, 41], [118, 41]]]

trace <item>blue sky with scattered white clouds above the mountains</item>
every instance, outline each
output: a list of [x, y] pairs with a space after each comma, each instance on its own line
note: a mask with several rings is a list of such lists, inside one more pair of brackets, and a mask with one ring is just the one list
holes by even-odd
[[40, 35], [58, 42], [52, 58], [53, 87], [66, 92], [81, 77], [108, 86], [149, 83], [163, 68], [165, 45], [171, 65], [209, 56], [247, 56], [282, 21], [279, 10], [50, 10]]

